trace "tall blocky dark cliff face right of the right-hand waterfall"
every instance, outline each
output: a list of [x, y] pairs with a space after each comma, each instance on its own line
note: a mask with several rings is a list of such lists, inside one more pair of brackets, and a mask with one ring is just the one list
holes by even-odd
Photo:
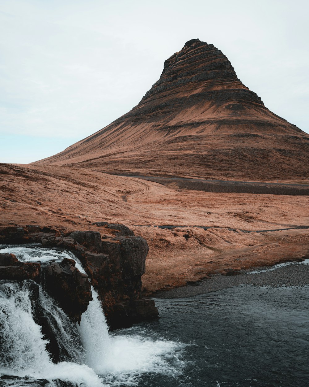
[[155, 302], [141, 296], [148, 251], [140, 236], [118, 236], [102, 241], [104, 254], [86, 253], [92, 283], [111, 329], [158, 318]]

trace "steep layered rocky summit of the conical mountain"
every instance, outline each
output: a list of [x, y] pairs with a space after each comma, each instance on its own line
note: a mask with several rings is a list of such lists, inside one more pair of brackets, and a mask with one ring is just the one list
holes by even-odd
[[168, 58], [160, 79], [146, 92], [141, 102], [163, 98], [173, 92], [196, 99], [228, 101], [238, 99], [262, 104], [261, 99], [238, 79], [228, 58], [214, 45], [199, 39], [189, 40], [182, 50]]

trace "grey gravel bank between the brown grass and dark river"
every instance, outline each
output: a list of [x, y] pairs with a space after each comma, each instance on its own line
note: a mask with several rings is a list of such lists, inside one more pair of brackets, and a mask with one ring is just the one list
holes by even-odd
[[155, 298], [185, 298], [233, 288], [241, 284], [255, 286], [304, 286], [309, 285], [309, 259], [304, 262], [279, 264], [273, 267], [259, 267], [233, 276], [216, 274], [193, 285], [160, 292]]

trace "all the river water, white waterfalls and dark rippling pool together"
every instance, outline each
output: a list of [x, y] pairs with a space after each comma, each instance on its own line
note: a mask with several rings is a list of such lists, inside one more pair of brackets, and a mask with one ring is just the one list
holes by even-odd
[[[32, 262], [73, 258], [38, 247], [3, 246], [0, 252], [8, 250]], [[32, 318], [26, 285], [0, 284], [0, 386], [309, 386], [308, 286], [238, 285], [156, 298], [160, 320], [112, 333], [94, 289], [76, 327], [42, 289], [41, 303], [58, 321], [54, 329], [71, 354], [54, 365]]]

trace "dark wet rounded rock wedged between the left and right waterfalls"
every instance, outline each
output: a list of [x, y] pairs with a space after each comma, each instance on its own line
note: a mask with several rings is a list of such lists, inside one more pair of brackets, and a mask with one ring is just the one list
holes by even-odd
[[93, 298], [88, 276], [75, 267], [75, 262], [66, 258], [48, 262], [42, 267], [42, 284], [72, 322], [80, 322]]

